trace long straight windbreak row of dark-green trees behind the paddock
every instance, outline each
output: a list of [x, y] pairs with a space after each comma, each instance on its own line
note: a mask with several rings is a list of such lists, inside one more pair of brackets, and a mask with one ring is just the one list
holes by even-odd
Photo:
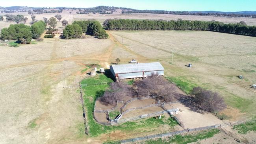
[[256, 36], [256, 26], [247, 26], [245, 22], [224, 24], [218, 21], [191, 20], [131, 20], [107, 19], [104, 25], [108, 30], [203, 30], [239, 35]]

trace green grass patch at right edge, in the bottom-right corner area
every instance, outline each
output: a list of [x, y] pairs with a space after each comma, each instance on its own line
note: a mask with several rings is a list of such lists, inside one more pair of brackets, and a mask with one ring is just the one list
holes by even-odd
[[246, 122], [245, 124], [239, 124], [234, 126], [234, 129], [238, 131], [238, 133], [248, 133], [249, 131], [256, 131], [256, 117], [252, 120]]

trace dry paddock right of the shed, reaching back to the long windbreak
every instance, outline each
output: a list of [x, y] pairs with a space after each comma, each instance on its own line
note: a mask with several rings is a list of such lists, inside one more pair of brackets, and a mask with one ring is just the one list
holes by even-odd
[[[187, 94], [193, 87], [200, 86], [219, 92], [230, 107], [246, 113], [245, 116], [256, 114], [253, 106], [256, 104], [256, 90], [250, 88], [252, 83], [256, 83], [253, 66], [256, 58], [255, 37], [209, 31], [110, 33], [127, 49], [135, 52], [134, 58], [139, 62], [160, 61], [169, 81], [176, 83]], [[192, 68], [187, 67], [188, 63], [193, 64]], [[238, 75], [245, 78], [238, 79]], [[226, 117], [239, 119], [232, 111], [226, 112]]]

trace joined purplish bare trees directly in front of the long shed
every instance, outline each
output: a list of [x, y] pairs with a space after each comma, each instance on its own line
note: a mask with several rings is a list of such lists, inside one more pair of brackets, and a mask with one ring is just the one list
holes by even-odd
[[119, 80], [110, 84], [100, 101], [105, 105], [115, 105], [118, 100], [125, 100], [127, 97], [156, 96], [156, 100], [171, 102], [174, 100], [175, 87], [162, 76], [152, 76], [141, 81], [135, 81], [132, 87], [125, 81]]

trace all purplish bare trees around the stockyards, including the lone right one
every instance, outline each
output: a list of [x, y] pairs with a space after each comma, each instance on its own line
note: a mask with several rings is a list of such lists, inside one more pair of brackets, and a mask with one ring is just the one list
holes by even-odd
[[[115, 105], [119, 100], [123, 101], [132, 97], [143, 96], [156, 96], [157, 101], [172, 102], [178, 96], [176, 88], [164, 77], [157, 74], [152, 74], [152, 76], [140, 81], [134, 81], [134, 85], [136, 87], [130, 86], [122, 80], [113, 82], [100, 98], [100, 102], [105, 105]], [[190, 103], [208, 112], [221, 111], [226, 108], [224, 99], [219, 93], [205, 90], [201, 87], [193, 88], [191, 97], [188, 100], [185, 103]]]

